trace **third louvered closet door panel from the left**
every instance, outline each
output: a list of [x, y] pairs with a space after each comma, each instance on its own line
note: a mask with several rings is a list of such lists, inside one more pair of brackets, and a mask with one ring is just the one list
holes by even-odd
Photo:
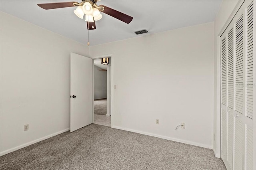
[[235, 22], [235, 111], [234, 111], [234, 170], [244, 168], [244, 10], [238, 11]]

